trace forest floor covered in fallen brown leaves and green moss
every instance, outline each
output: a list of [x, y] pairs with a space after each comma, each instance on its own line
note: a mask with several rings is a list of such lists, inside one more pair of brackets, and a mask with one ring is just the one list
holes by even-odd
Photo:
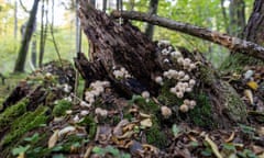
[[[81, 99], [89, 95], [81, 94], [82, 81], [79, 94], [75, 95], [70, 83], [57, 83], [57, 71], [35, 71], [28, 77], [12, 75], [0, 87], [2, 101], [18, 82], [26, 82], [31, 88], [42, 84], [48, 91], [45, 105], [33, 105], [33, 110], [31, 105], [23, 111], [29, 105], [23, 99], [0, 113], [1, 157], [264, 158], [264, 116], [263, 112], [252, 111], [251, 102], [248, 105], [253, 114], [249, 115], [249, 124], [210, 129], [164, 117], [161, 98], [146, 100], [135, 94], [128, 100], [112, 95], [106, 81], [97, 82], [105, 84], [103, 93], [98, 94], [92, 105], [88, 104]], [[230, 81], [240, 84], [241, 78], [230, 77]], [[254, 89], [255, 83], [248, 88]], [[88, 91], [92, 91], [92, 86]], [[30, 93], [26, 95], [30, 98]], [[248, 95], [241, 92], [241, 97]]]

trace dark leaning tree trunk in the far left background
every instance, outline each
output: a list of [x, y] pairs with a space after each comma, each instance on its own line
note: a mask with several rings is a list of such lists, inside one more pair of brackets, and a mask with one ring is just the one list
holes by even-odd
[[23, 40], [20, 46], [19, 56], [15, 61], [14, 66], [14, 72], [22, 72], [24, 71], [24, 65], [26, 59], [26, 54], [29, 50], [30, 41], [34, 31], [34, 24], [36, 20], [36, 12], [37, 12], [37, 5], [40, 0], [34, 0], [31, 13], [30, 13], [30, 20], [26, 23], [25, 33], [23, 35]]

